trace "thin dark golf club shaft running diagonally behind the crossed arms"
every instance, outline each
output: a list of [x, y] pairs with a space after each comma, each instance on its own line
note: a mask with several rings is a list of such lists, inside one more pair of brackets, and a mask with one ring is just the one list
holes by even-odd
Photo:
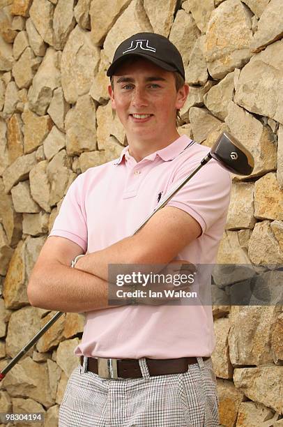
[[[171, 190], [171, 192], [167, 195], [167, 197], [165, 197], [165, 200], [162, 201], [162, 199], [160, 200], [160, 204], [158, 207], [156, 207], [154, 209], [154, 211], [148, 215], [148, 217], [144, 220], [144, 222], [139, 225], [139, 228], [137, 228], [137, 230], [135, 230], [135, 232], [132, 234], [132, 236], [134, 236], [137, 232], [139, 232], [139, 230], [142, 229], [142, 227], [144, 227], [144, 225], [146, 225], [146, 223], [148, 222], [148, 220], [150, 220], [150, 218], [160, 209], [162, 209], [162, 207], [165, 207], [165, 205], [169, 202], [169, 200], [171, 200], [171, 198], [178, 192], [178, 190], [180, 190], [185, 183], [187, 183], [188, 181], [190, 181], [190, 179], [201, 169], [201, 167], [203, 167], [204, 165], [206, 165], [206, 163], [208, 163], [209, 160], [211, 160], [211, 156], [208, 153], [208, 155], [206, 157], [204, 157], [201, 160], [201, 163], [190, 173], [190, 175], [188, 175], [188, 177], [185, 177], [185, 179], [183, 179], [183, 181], [181, 181], [181, 183], [178, 184], [178, 186], [176, 186], [176, 188], [173, 188], [173, 190]], [[61, 315], [63, 315], [63, 311], [58, 311], [50, 320], [49, 322], [47, 322], [43, 328], [40, 329], [40, 331], [38, 331], [38, 333], [33, 336], [33, 338], [31, 338], [31, 340], [29, 341], [29, 343], [27, 343], [22, 350], [20, 350], [20, 352], [18, 352], [15, 357], [13, 357], [13, 359], [8, 363], [7, 366], [5, 366], [5, 368], [3, 368], [0, 372], [0, 382], [1, 380], [3, 380], [3, 377], [5, 377], [6, 373], [9, 372], [10, 369], [13, 368], [13, 366], [15, 366], [15, 364], [17, 364], [17, 361], [19, 361], [24, 354], [29, 351], [29, 349], [31, 347], [33, 347], [34, 344], [37, 343], [37, 341], [40, 339], [41, 336], [43, 336], [43, 334], [45, 334], [45, 332], [52, 326], [52, 324], [54, 324], [54, 322], [56, 322], [56, 320], [59, 319], [59, 317], [61, 317]]]

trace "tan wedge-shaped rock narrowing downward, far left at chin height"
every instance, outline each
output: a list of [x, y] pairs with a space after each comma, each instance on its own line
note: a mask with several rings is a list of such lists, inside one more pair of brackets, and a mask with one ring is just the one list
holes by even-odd
[[30, 110], [22, 113], [24, 121], [24, 153], [39, 147], [52, 129], [53, 123], [48, 115], [38, 116]]

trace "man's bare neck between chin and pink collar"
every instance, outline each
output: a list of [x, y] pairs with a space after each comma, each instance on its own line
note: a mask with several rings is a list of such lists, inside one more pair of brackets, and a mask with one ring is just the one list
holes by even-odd
[[127, 140], [129, 144], [129, 154], [137, 162], [140, 162], [143, 158], [146, 156], [149, 156], [152, 153], [155, 153], [155, 151], [161, 150], [165, 147], [168, 147], [172, 142], [176, 141], [180, 135], [178, 134], [177, 130], [176, 132], [171, 135], [171, 137], [167, 137], [166, 140], [137, 140], [137, 139], [130, 139], [127, 135]]

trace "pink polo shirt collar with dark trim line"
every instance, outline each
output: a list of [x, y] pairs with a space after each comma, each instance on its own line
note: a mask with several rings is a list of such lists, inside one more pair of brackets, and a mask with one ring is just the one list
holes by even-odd
[[[148, 160], [155, 160], [156, 156], [159, 156], [164, 160], [165, 162], [169, 162], [171, 160], [174, 160], [179, 154], [182, 153], [188, 146], [191, 144], [194, 144], [194, 141], [190, 140], [190, 138], [187, 135], [181, 135], [177, 138], [174, 142], [167, 145], [167, 147], [155, 151], [154, 153], [149, 154], [145, 158]], [[114, 163], [114, 165], [120, 165], [123, 163], [123, 161], [129, 160], [130, 154], [129, 154], [129, 146], [123, 148], [120, 157], [118, 160]], [[143, 159], [144, 160], [144, 159]], [[141, 160], [142, 161], [142, 160]]]

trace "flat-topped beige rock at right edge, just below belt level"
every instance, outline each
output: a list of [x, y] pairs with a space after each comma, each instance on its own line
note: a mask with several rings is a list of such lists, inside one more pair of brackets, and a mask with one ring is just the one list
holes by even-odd
[[273, 410], [283, 412], [281, 388], [282, 366], [238, 368], [234, 370], [234, 384], [245, 396], [263, 403]]

